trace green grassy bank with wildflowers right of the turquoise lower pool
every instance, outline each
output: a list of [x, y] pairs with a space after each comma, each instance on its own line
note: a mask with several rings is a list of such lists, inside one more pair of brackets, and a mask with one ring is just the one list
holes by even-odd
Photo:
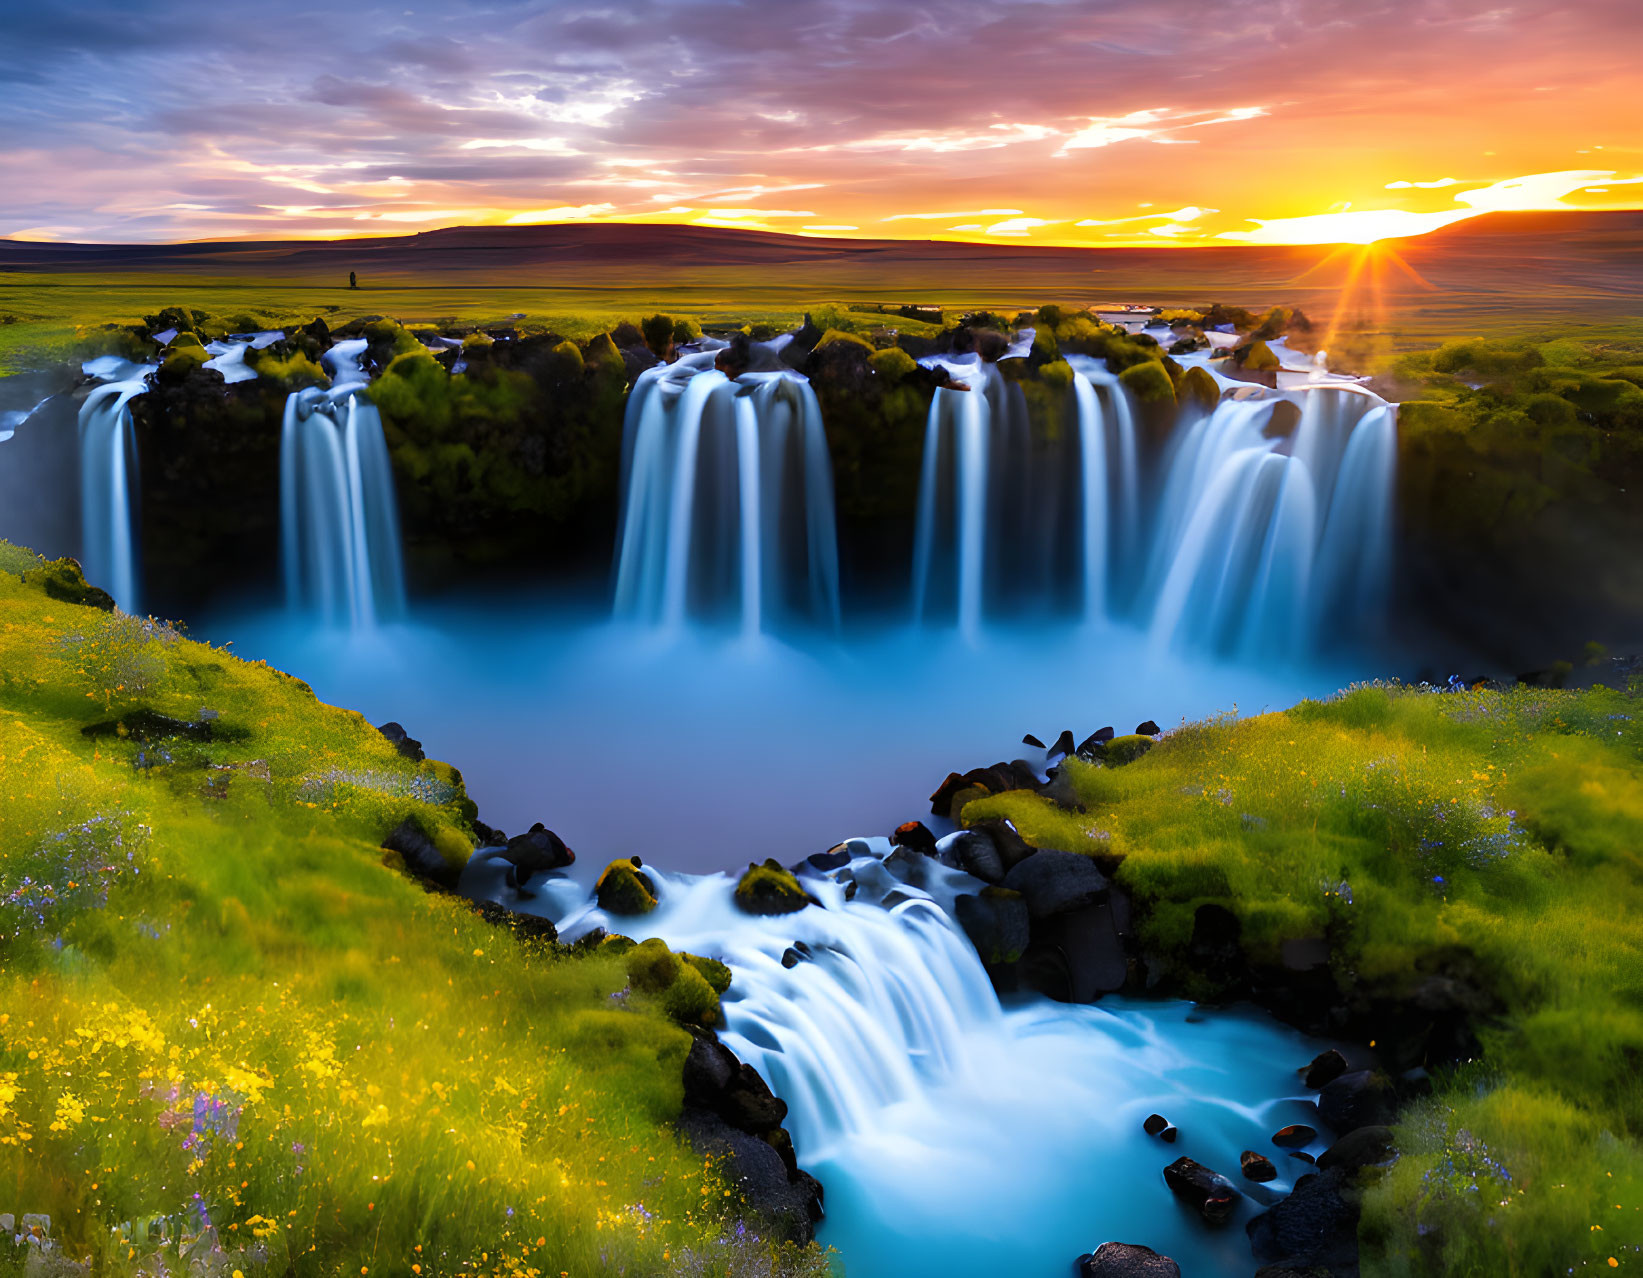
[[1239, 915], [1252, 963], [1328, 938], [1342, 989], [1466, 972], [1482, 1056], [1405, 1112], [1360, 1230], [1372, 1275], [1643, 1271], [1643, 700], [1594, 688], [1357, 688], [1070, 762], [1033, 843], [1124, 857], [1145, 941]]

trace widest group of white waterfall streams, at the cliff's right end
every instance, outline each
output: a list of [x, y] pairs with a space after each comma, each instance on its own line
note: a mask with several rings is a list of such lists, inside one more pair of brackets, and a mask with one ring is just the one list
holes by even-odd
[[[937, 391], [925, 424], [915, 621], [974, 639], [1070, 613], [1283, 660], [1374, 637], [1392, 572], [1393, 406], [1316, 370], [1288, 391], [1217, 376], [1221, 402], [1183, 409], [1158, 447], [1102, 361], [1068, 361], [1065, 430], [1035, 439], [996, 365], [923, 360], [971, 389]], [[1272, 429], [1282, 402], [1300, 409], [1288, 435]]]

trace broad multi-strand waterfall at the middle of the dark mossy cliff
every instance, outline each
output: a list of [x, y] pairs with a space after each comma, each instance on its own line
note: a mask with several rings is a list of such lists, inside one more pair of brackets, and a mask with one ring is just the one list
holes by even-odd
[[679, 629], [734, 618], [836, 628], [833, 468], [810, 383], [731, 379], [715, 352], [639, 375], [623, 425], [614, 613]]

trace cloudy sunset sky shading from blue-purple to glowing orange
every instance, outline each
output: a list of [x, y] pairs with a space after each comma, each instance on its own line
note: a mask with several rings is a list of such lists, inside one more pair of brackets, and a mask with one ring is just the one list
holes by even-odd
[[1326, 243], [1643, 207], [1643, 8], [7, 0], [0, 235]]

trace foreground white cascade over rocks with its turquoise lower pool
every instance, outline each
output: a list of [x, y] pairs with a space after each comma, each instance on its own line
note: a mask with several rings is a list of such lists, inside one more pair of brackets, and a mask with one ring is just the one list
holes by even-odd
[[[798, 1161], [826, 1189], [820, 1240], [853, 1278], [1060, 1278], [1106, 1240], [1152, 1245], [1194, 1278], [1247, 1275], [1254, 1201], [1211, 1230], [1162, 1170], [1186, 1155], [1260, 1196], [1239, 1176], [1239, 1152], [1254, 1148], [1278, 1166], [1268, 1189], [1285, 1193], [1305, 1166], [1270, 1137], [1316, 1125], [1296, 1066], [1319, 1045], [1254, 1014], [1188, 1004], [1001, 1005], [943, 908], [981, 884], [940, 869], [930, 897], [877, 862], [886, 839], [856, 846], [866, 854], [851, 864], [854, 902], [836, 876], [807, 876], [825, 908], [775, 918], [743, 915], [728, 876], [654, 866], [660, 903], [644, 918], [601, 915], [564, 876], [519, 900], [485, 854], [463, 890], [554, 917], [568, 938], [600, 925], [726, 961], [721, 1037], [787, 1101]], [[914, 900], [886, 910], [886, 889]], [[815, 958], [789, 969], [794, 941]], [[1142, 1132], [1152, 1112], [1181, 1129], [1178, 1143]]]

